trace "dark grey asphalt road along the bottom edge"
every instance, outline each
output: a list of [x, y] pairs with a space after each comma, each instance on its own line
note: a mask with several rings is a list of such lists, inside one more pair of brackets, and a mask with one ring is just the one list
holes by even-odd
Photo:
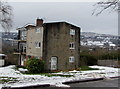
[[[24, 89], [119, 89], [120, 81], [119, 79], [109, 79], [109, 80], [98, 80], [91, 82], [73, 83], [69, 84], [70, 88], [58, 88], [58, 87], [32, 87]], [[96, 88], [97, 87], [97, 88]], [[18, 88], [23, 89], [23, 88]]]

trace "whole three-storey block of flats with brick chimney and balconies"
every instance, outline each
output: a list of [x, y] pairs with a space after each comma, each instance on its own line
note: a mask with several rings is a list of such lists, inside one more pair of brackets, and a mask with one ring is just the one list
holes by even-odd
[[27, 25], [17, 29], [19, 64], [27, 57], [45, 61], [46, 70], [70, 70], [79, 67], [80, 28], [67, 22]]

